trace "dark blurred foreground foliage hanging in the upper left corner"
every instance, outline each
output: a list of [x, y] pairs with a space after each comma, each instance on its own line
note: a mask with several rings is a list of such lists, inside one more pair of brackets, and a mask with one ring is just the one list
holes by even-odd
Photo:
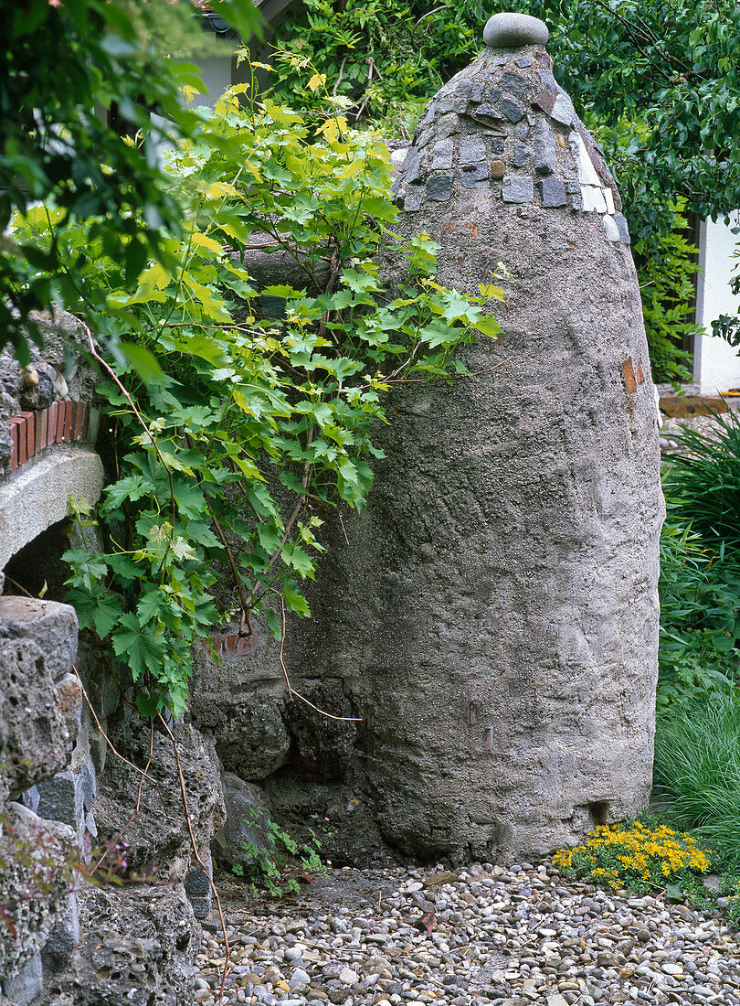
[[[257, 27], [249, 0], [217, 6], [247, 35]], [[42, 253], [4, 233], [15, 210], [51, 199], [57, 234], [96, 217], [91, 238], [129, 279], [148, 258], [167, 261], [162, 229], [174, 230], [180, 211], [157, 158], [166, 137], [149, 113], [169, 120], [168, 132], [188, 135], [194, 116], [180, 88], [199, 87], [196, 68], [164, 58], [157, 44], [163, 25], [175, 23], [178, 38], [188, 24], [197, 38], [189, 4], [26, 0], [3, 11], [0, 347], [10, 342], [22, 362], [29, 313], [74, 301], [76, 292], [58, 243]], [[110, 128], [112, 109], [140, 131], [136, 144]], [[83, 267], [83, 249], [76, 258]]]

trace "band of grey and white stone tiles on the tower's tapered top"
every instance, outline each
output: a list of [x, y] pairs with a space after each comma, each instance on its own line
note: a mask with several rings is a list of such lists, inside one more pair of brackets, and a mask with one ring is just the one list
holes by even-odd
[[629, 243], [603, 154], [541, 45], [486, 49], [421, 116], [393, 186], [398, 203], [418, 212], [466, 189], [489, 190], [504, 203], [598, 214], [605, 240]]

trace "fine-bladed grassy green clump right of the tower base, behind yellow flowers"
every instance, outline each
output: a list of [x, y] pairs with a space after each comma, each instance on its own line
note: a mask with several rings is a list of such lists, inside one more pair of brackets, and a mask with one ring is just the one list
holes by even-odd
[[656, 731], [655, 779], [685, 826], [720, 861], [740, 866], [740, 694], [715, 692], [666, 710]]

